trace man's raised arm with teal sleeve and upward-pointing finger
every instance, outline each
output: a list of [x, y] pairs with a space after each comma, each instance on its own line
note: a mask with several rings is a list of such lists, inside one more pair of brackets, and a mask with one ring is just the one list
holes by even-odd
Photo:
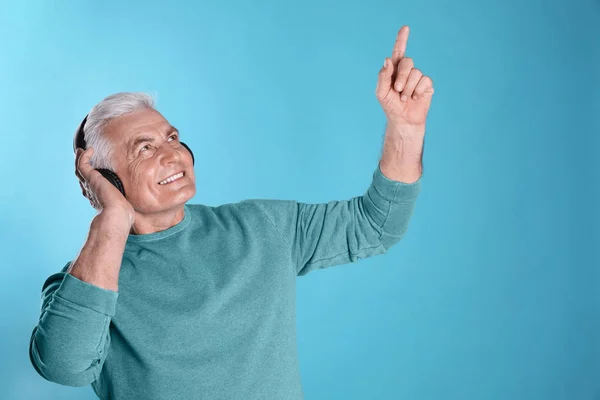
[[386, 252], [406, 233], [421, 189], [425, 122], [433, 82], [405, 57], [409, 28], [398, 32], [375, 94], [387, 117], [381, 160], [364, 195], [307, 204], [250, 200], [278, 231], [298, 275]]

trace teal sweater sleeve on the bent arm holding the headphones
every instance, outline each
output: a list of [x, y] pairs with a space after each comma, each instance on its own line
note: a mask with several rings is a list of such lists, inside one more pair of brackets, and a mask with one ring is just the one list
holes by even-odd
[[31, 334], [29, 358], [48, 381], [86, 386], [104, 365], [118, 293], [66, 273], [70, 264], [42, 286], [41, 315]]

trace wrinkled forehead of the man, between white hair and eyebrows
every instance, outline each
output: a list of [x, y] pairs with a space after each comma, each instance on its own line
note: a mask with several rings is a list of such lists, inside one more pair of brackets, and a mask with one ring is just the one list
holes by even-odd
[[171, 128], [171, 124], [161, 113], [148, 108], [113, 119], [106, 125], [104, 134], [112, 143], [127, 145], [141, 134], [165, 134]]

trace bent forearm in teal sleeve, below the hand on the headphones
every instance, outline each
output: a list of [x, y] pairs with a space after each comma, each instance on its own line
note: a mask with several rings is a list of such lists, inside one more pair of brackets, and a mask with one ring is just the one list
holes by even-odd
[[129, 235], [122, 221], [108, 210], [99, 213], [77, 258], [42, 287], [41, 315], [31, 334], [29, 356], [35, 370], [51, 382], [86, 386], [102, 370]]

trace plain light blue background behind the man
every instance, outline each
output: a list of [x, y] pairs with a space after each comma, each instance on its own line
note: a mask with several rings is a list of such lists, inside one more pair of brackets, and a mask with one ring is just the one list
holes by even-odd
[[93, 399], [29, 362], [40, 290], [94, 210], [72, 135], [157, 93], [193, 203], [362, 194], [400, 26], [430, 75], [425, 175], [383, 256], [298, 279], [313, 399], [600, 399], [600, 2], [27, 1], [0, 10], [0, 398]]

